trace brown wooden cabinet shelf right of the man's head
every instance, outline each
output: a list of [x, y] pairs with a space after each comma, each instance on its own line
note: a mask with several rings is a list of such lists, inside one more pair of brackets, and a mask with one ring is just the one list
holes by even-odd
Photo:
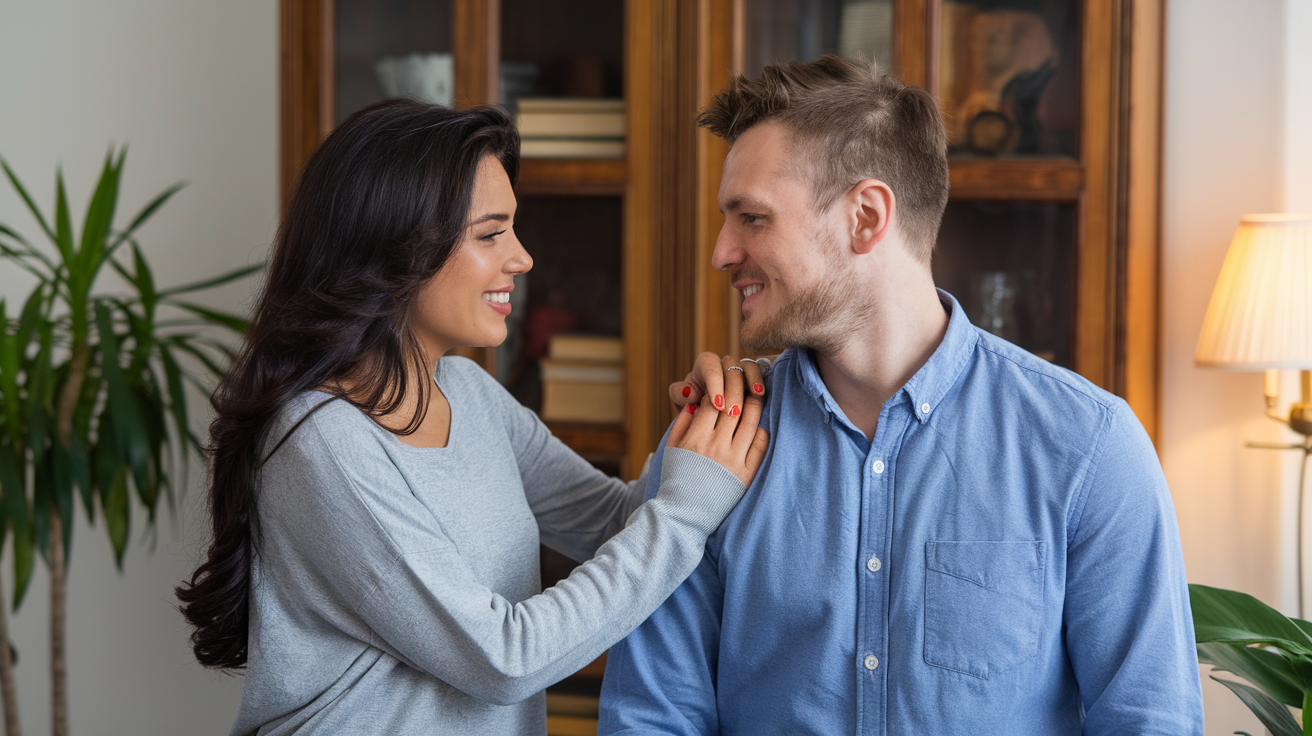
[[953, 199], [1073, 202], [1084, 188], [1075, 159], [949, 159]]

